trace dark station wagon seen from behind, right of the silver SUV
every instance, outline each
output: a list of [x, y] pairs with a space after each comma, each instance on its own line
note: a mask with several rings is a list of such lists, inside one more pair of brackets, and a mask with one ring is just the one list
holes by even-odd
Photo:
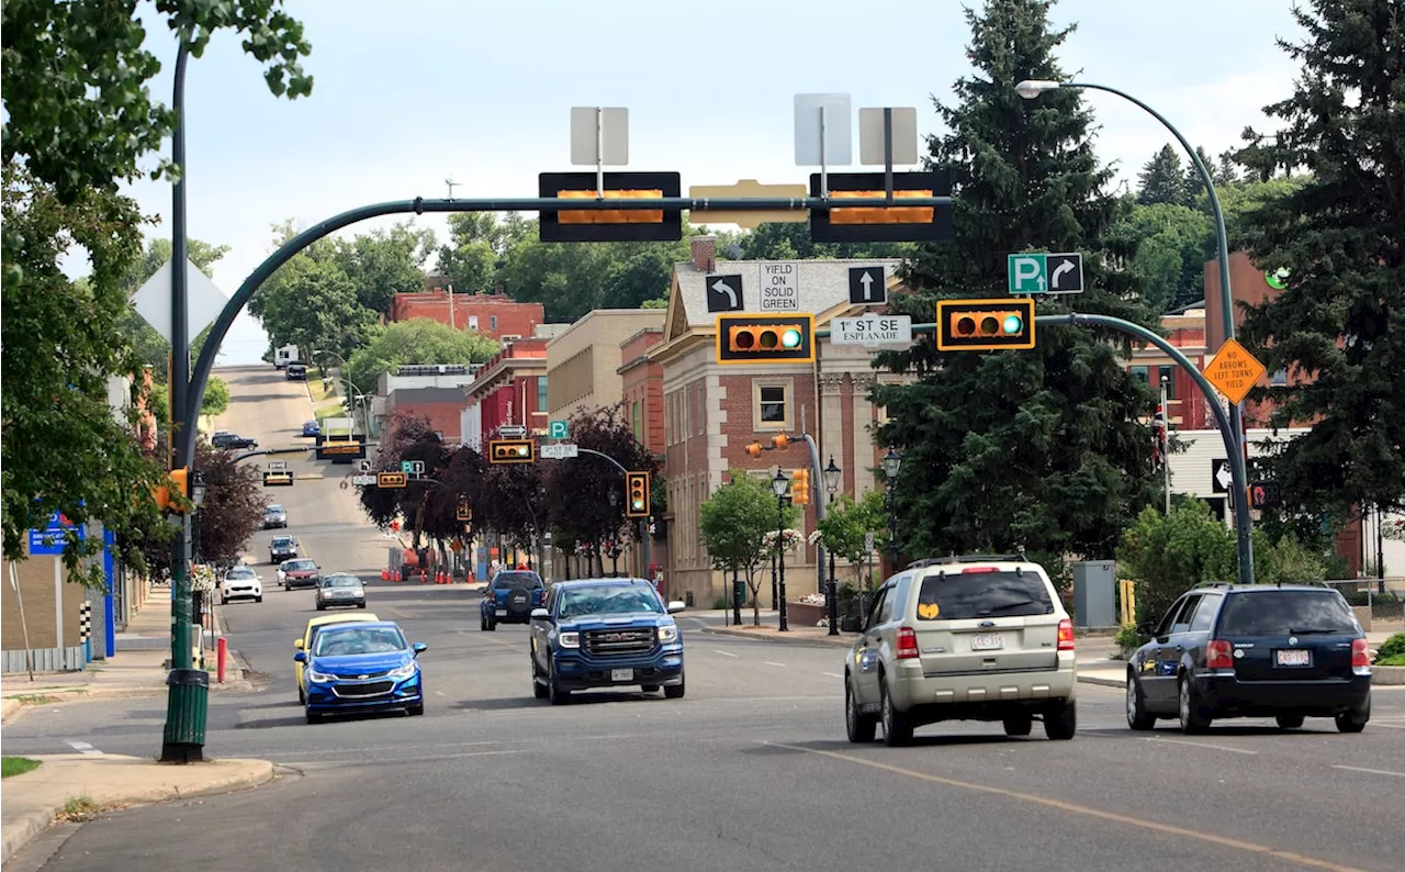
[[1127, 724], [1175, 717], [1204, 733], [1224, 717], [1273, 717], [1297, 730], [1331, 717], [1342, 733], [1371, 719], [1371, 655], [1346, 598], [1315, 585], [1203, 584], [1127, 661]]

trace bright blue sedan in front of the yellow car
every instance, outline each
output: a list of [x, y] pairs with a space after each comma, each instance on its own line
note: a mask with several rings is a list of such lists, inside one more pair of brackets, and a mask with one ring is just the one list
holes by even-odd
[[424, 714], [417, 658], [427, 647], [406, 643], [393, 620], [325, 627], [311, 651], [292, 655], [306, 664], [308, 723], [339, 712], [403, 709]]

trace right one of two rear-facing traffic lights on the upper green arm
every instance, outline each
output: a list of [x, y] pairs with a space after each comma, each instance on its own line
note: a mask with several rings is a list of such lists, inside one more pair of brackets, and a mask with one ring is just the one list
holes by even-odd
[[[829, 173], [832, 201], [888, 195], [882, 173]], [[819, 173], [809, 177], [809, 195], [821, 195]], [[811, 210], [809, 235], [815, 242], [948, 242], [953, 238], [951, 205], [902, 205], [913, 197], [950, 197], [951, 173], [894, 173], [888, 207], [835, 207]]]

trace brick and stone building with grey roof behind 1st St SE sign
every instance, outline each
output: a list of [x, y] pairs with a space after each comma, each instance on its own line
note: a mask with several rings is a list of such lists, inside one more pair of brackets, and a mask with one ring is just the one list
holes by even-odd
[[[698, 533], [698, 508], [728, 480], [728, 471], [743, 468], [770, 477], [777, 466], [785, 471], [808, 467], [809, 453], [798, 439], [784, 450], [746, 453], [752, 442], [769, 444], [773, 435], [808, 432], [819, 447], [821, 463], [833, 456], [843, 470], [840, 491], [861, 495], [874, 489], [880, 451], [870, 428], [882, 423], [882, 409], [868, 399], [875, 380], [906, 381], [902, 376], [878, 373], [873, 353], [863, 346], [818, 342], [813, 364], [719, 366], [715, 350], [717, 315], [708, 312], [704, 277], [712, 271], [740, 273], [743, 298], [756, 300], [760, 262], [717, 260], [711, 236], [693, 239], [691, 260], [674, 264], [663, 340], [651, 350], [651, 360], [663, 367], [665, 457], [667, 478], [670, 596], [691, 591], [697, 605], [711, 605], [722, 595], [721, 572]], [[821, 328], [832, 318], [863, 311], [849, 304], [849, 269], [881, 263], [889, 278], [888, 293], [902, 286], [892, 274], [898, 260], [802, 260], [798, 262], [799, 311], [815, 315]], [[754, 305], [752, 307], [754, 308]], [[815, 502], [828, 498], [819, 475], [811, 475], [811, 505], [797, 525], [805, 536], [815, 529]], [[815, 549], [787, 556], [787, 596], [794, 601], [819, 589]], [[769, 579], [762, 601], [770, 605]]]

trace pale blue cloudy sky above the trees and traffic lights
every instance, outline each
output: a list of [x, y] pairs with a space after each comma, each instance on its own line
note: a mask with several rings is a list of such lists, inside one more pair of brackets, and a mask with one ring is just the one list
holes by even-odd
[[[1297, 70], [1276, 38], [1301, 37], [1291, 6], [1059, 0], [1051, 18], [1078, 25], [1058, 51], [1065, 75], [1134, 94], [1218, 155], [1239, 145], [1245, 127], [1272, 129], [1263, 107], [1290, 94]], [[308, 226], [370, 203], [445, 197], [447, 179], [457, 197], [534, 197], [538, 173], [584, 169], [570, 165], [576, 105], [629, 110], [629, 165], [615, 169], [674, 170], [684, 191], [740, 179], [798, 184], [818, 169], [795, 166], [795, 94], [851, 96], [857, 162], [860, 107], [916, 107], [919, 135], [940, 134], [932, 101], [950, 101], [953, 83], [971, 72], [957, 0], [287, 0], [285, 8], [312, 44], [311, 97], [274, 97], [260, 63], [228, 32], [187, 70], [188, 232], [230, 248], [214, 266], [225, 294], [273, 252], [271, 228], [288, 219]], [[169, 103], [174, 38], [150, 3], [138, 14], [163, 66], [152, 93]], [[1134, 183], [1170, 135], [1113, 94], [1085, 93], [1099, 155]], [[169, 235], [170, 186], [139, 181], [128, 193], [160, 219], [149, 232]], [[444, 217], [413, 221], [447, 236]], [[221, 363], [256, 363], [266, 349], [244, 314]]]

